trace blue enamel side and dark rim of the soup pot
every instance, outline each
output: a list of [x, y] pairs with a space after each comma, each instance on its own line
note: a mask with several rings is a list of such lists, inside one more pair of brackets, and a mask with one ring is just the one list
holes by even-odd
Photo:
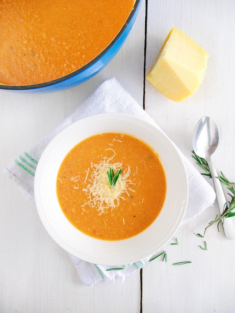
[[0, 89], [6, 90], [28, 90], [36, 92], [53, 92], [68, 89], [89, 80], [95, 74], [97, 74], [103, 67], [105, 67], [111, 59], [117, 54], [121, 46], [123, 45], [130, 29], [132, 28], [137, 14], [140, 9], [142, 0], [136, 0], [133, 10], [131, 11], [126, 23], [121, 28], [120, 32], [111, 41], [111, 43], [95, 57], [88, 64], [84, 65], [80, 69], [60, 77], [56, 80], [51, 80], [42, 84], [35, 85], [22, 85], [22, 86], [10, 86], [10, 85], [0, 85]]

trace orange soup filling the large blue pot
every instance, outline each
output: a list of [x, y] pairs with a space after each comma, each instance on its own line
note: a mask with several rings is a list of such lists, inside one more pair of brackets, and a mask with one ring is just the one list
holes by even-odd
[[32, 85], [74, 72], [124, 25], [134, 0], [0, 0], [0, 84]]

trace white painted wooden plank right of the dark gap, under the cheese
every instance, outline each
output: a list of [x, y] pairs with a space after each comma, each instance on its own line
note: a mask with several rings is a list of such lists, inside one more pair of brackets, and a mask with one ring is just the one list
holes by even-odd
[[[174, 25], [209, 54], [207, 70], [197, 92], [174, 103], [146, 82], [146, 111], [191, 160], [192, 133], [197, 121], [211, 116], [219, 129], [220, 143], [214, 165], [234, 180], [234, 1], [149, 0], [146, 68], [150, 68], [166, 35]], [[195, 163], [194, 163], [195, 164]], [[235, 242], [213, 227], [208, 229], [208, 251], [199, 245], [191, 228], [202, 232], [218, 212], [217, 203], [176, 232], [179, 245], [163, 247], [167, 263], [155, 260], [143, 269], [143, 312], [235, 312]], [[174, 242], [173, 240], [171, 242]], [[192, 261], [173, 266], [172, 263]]]

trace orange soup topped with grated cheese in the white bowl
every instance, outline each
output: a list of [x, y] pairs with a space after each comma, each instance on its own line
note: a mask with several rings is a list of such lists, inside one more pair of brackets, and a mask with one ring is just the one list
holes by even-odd
[[[107, 171], [122, 169], [115, 186]], [[121, 240], [145, 230], [166, 196], [166, 177], [156, 152], [145, 142], [120, 133], [91, 136], [62, 162], [57, 197], [67, 219], [98, 239]]]

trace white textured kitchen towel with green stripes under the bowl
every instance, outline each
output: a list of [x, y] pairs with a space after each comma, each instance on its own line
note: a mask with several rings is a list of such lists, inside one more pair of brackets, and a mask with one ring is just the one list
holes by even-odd
[[[150, 122], [158, 127], [151, 117], [138, 105], [138, 103], [123, 89], [115, 78], [106, 80], [101, 84], [93, 94], [85, 100], [72, 114], [70, 114], [59, 126], [36, 143], [22, 155], [18, 156], [13, 163], [3, 169], [3, 172], [11, 178], [20, 187], [23, 194], [30, 201], [33, 198], [33, 179], [38, 160], [48, 145], [48, 143], [62, 129], [71, 123], [97, 113], [116, 112], [134, 115]], [[177, 148], [178, 149], [178, 148]], [[188, 175], [189, 183], [189, 198], [188, 205], [183, 223], [194, 216], [202, 213], [207, 207], [212, 205], [215, 200], [215, 192], [213, 188], [206, 182], [201, 174], [192, 166], [182, 152], [178, 149]], [[94, 285], [100, 280], [114, 280], [115, 276], [122, 277], [133, 273], [140, 269], [148, 262], [151, 256], [147, 259], [136, 260], [133, 264], [104, 266], [99, 264], [88, 263], [80, 260], [72, 255], [69, 255], [75, 268], [78, 271], [80, 279], [86, 285]], [[112, 268], [123, 268], [121, 270], [111, 270]]]

